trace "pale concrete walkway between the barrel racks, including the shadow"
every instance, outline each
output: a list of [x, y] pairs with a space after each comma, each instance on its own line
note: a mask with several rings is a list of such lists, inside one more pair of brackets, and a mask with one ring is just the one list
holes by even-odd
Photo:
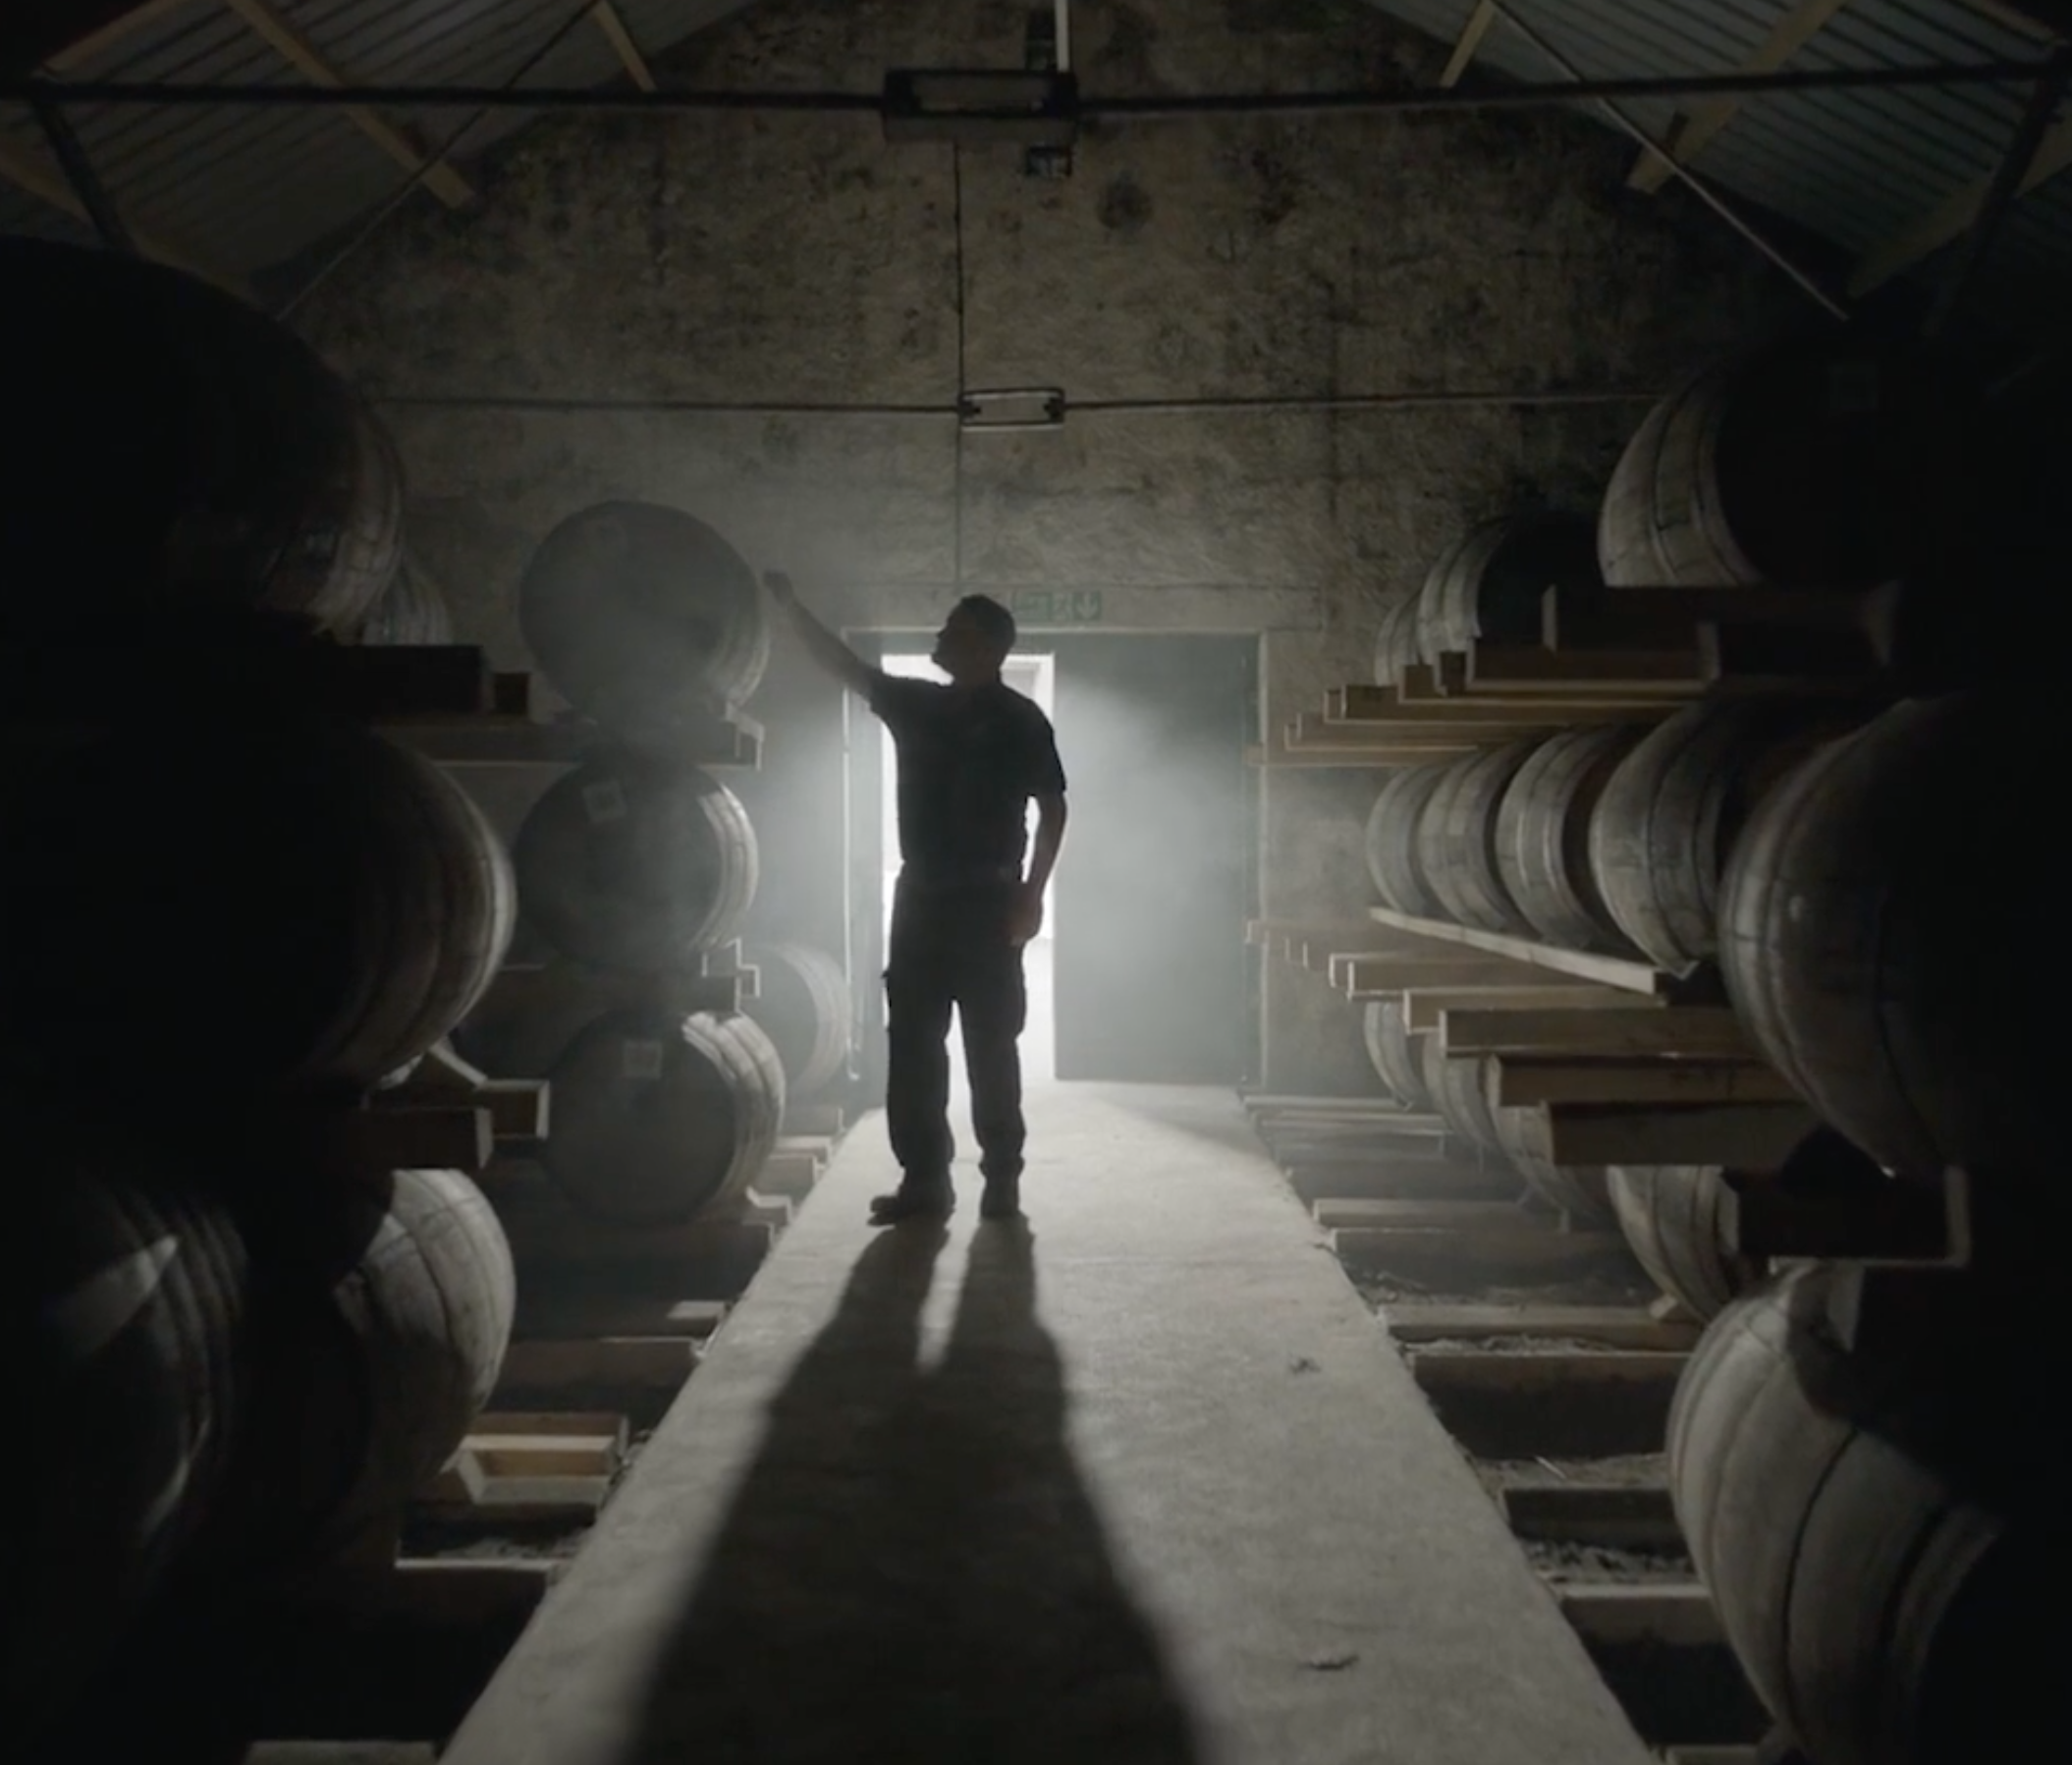
[[1647, 1765], [1220, 1092], [847, 1139], [450, 1765]]

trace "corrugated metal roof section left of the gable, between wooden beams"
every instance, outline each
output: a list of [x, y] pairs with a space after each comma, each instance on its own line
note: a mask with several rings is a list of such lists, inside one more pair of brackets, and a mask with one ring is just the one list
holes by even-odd
[[[620, 17], [649, 56], [746, 0], [620, 0]], [[350, 81], [499, 85], [580, 8], [578, 0], [274, 0], [311, 46]], [[524, 85], [603, 85], [624, 73], [605, 33], [578, 23]], [[68, 79], [261, 83], [300, 79], [240, 19], [207, 0], [176, 6], [66, 68]], [[149, 110], [75, 106], [73, 128], [124, 220], [153, 242], [226, 276], [253, 276], [336, 234], [385, 201], [404, 176], [338, 110]], [[437, 147], [468, 118], [421, 110], [390, 122]], [[530, 120], [491, 112], [468, 131], [462, 164]], [[0, 116], [0, 141], [50, 164], [25, 108]], [[462, 172], [464, 174], [464, 172]], [[410, 201], [435, 201], [416, 193]], [[81, 222], [0, 182], [0, 230], [91, 238]]]

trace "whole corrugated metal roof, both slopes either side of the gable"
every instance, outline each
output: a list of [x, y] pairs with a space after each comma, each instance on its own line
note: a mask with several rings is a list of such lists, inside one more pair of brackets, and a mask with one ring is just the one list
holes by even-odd
[[[274, 0], [346, 77], [412, 85], [495, 85], [570, 21], [576, 0]], [[620, 0], [649, 54], [738, 10], [744, 0]], [[1380, 10], [1452, 41], [1473, 0], [1374, 0]], [[1579, 73], [1703, 75], [1743, 64], [1796, 0], [1508, 0]], [[1900, 66], [2035, 58], [2018, 29], [1977, 0], [1850, 0], [1792, 66]], [[1515, 79], [1560, 79], [1502, 21], [1477, 64]], [[68, 68], [73, 77], [292, 81], [271, 46], [209, 0], [153, 23]], [[622, 73], [603, 31], [584, 21], [526, 83], [595, 85]], [[1749, 99], [1695, 166], [1724, 193], [1863, 255], [1915, 226], [1950, 191], [1991, 176], [2026, 93], [2010, 87], [1780, 93]], [[1662, 137], [1664, 99], [1629, 114]], [[419, 112], [427, 145], [466, 118]], [[520, 128], [526, 112], [493, 112], [458, 151], [464, 164]], [[191, 261], [251, 276], [336, 234], [383, 201], [396, 162], [336, 110], [147, 110], [79, 106], [87, 153], [126, 218]], [[17, 108], [0, 141], [48, 164], [35, 122]], [[412, 201], [435, 201], [416, 193]], [[0, 228], [87, 238], [83, 224], [0, 184]], [[1927, 259], [1915, 273], [1933, 271]], [[1975, 284], [1975, 305], [2006, 323], [2064, 325], [2072, 313], [2072, 176], [2028, 193], [2008, 215]]]

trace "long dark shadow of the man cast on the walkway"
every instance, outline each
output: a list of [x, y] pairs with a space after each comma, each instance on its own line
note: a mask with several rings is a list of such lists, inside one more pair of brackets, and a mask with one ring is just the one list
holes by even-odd
[[769, 1413], [649, 1697], [698, 1765], [1191, 1765], [1065, 1438], [1021, 1224], [978, 1231], [916, 1365], [941, 1228], [885, 1233]]

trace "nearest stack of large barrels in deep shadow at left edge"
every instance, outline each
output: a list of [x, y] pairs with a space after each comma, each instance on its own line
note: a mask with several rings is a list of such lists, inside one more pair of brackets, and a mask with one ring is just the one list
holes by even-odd
[[400, 476], [294, 338], [131, 259], [0, 240], [19, 1187], [6, 1692], [62, 1736], [143, 1626], [392, 1537], [512, 1324], [454, 1170], [350, 1152], [466, 1013], [514, 891], [474, 806], [332, 694]]

